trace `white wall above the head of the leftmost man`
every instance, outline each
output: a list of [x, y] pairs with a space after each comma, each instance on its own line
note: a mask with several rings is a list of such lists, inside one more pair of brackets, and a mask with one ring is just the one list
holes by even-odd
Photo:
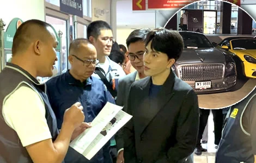
[[6, 23], [5, 30], [15, 17], [22, 21], [30, 19], [45, 21], [44, 0], [8, 0], [1, 2], [0, 18]]

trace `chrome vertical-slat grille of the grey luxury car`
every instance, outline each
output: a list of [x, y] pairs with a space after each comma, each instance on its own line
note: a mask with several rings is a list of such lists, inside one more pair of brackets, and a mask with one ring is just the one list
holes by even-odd
[[180, 78], [184, 81], [206, 81], [222, 79], [223, 64], [183, 65], [180, 69]]

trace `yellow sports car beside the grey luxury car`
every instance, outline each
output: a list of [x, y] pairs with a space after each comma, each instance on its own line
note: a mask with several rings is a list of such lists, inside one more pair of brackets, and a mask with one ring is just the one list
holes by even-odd
[[221, 47], [235, 54], [238, 76], [256, 78], [256, 39], [233, 39], [222, 43]]

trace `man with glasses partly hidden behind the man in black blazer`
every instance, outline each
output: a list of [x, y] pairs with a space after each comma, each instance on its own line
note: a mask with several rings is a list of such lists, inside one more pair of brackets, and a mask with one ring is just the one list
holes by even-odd
[[[149, 29], [135, 29], [126, 39], [126, 45], [128, 47], [127, 57], [136, 71], [119, 80], [117, 105], [124, 106], [124, 111], [126, 111], [126, 100], [130, 92], [131, 84], [145, 77], [143, 66], [143, 54], [145, 53], [144, 40], [149, 32]], [[124, 140], [120, 132], [115, 135], [115, 140], [117, 141], [118, 150], [117, 162], [124, 162]]]

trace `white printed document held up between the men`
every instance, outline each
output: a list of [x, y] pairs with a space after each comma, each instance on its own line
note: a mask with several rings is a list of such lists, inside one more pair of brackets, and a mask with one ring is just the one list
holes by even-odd
[[123, 107], [107, 102], [92, 122], [92, 127], [70, 143], [70, 147], [84, 155], [88, 160], [123, 127], [132, 116], [122, 111]]

